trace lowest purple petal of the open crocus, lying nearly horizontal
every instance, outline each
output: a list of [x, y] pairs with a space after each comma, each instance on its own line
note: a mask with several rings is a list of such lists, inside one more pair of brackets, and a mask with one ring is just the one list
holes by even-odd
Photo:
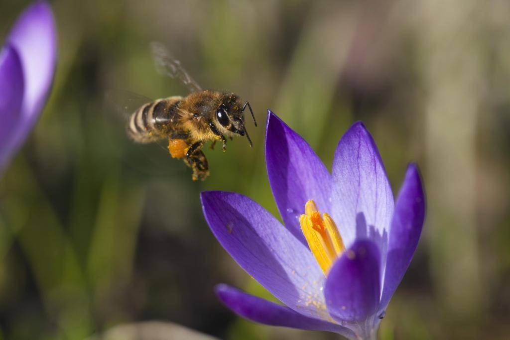
[[352, 331], [340, 325], [305, 317], [287, 306], [246, 294], [226, 284], [216, 286], [216, 295], [223, 304], [248, 320], [271, 326], [306, 330], [323, 330], [353, 337]]

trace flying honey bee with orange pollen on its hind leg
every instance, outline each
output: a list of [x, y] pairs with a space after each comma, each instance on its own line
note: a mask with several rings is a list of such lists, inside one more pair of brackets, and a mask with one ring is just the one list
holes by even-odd
[[193, 170], [193, 180], [204, 180], [209, 175], [205, 143], [221, 141], [226, 150], [226, 138], [246, 136], [244, 110], [249, 109], [257, 126], [250, 103], [242, 103], [231, 92], [202, 90], [181, 63], [173, 59], [160, 43], [151, 43], [156, 66], [160, 73], [181, 80], [191, 91], [187, 96], [172, 96], [146, 102], [131, 114], [126, 126], [127, 136], [137, 143], [152, 143], [168, 139], [172, 158], [183, 159]]

